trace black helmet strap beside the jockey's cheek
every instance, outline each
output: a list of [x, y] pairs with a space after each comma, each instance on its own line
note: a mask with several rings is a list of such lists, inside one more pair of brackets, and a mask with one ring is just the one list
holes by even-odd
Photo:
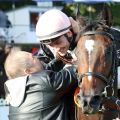
[[75, 42], [76, 34], [73, 34], [71, 37], [69, 37], [67, 34], [65, 34], [64, 36], [66, 37], [66, 39], [70, 43], [69, 50], [73, 50], [76, 47], [76, 42]]

